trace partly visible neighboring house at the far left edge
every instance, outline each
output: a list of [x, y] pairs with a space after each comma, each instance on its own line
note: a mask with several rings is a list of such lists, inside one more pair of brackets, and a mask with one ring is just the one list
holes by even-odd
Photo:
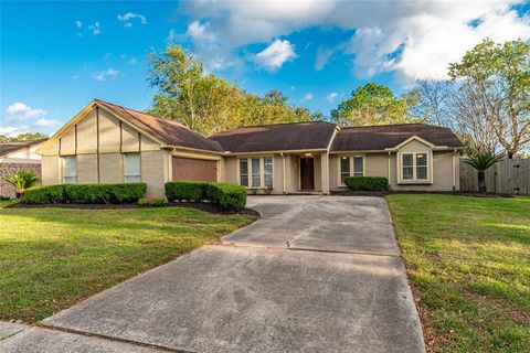
[[17, 189], [4, 178], [21, 170], [32, 170], [41, 178], [41, 156], [35, 151], [46, 139], [0, 142], [0, 196], [14, 197]]

